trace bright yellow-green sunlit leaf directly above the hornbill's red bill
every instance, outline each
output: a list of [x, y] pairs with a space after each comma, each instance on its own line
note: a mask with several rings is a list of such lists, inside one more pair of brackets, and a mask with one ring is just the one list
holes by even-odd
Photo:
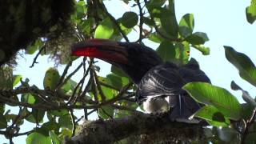
[[96, 28], [94, 38], [111, 38], [114, 28], [110, 18], [105, 18]]

